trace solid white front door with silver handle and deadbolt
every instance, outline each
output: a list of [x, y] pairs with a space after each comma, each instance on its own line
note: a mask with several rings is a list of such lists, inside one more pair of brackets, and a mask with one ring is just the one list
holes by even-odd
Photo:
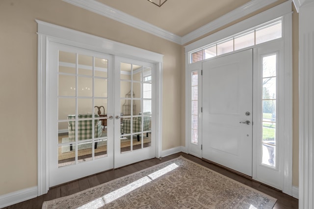
[[203, 62], [202, 79], [202, 157], [252, 176], [252, 50]]

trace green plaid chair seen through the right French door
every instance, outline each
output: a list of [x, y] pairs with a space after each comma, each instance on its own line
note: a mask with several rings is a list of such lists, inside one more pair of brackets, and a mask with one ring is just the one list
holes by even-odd
[[[142, 113], [139, 113], [141, 115]], [[141, 132], [142, 117], [134, 117], [132, 123], [132, 133]], [[151, 112], [143, 112], [143, 131], [149, 131], [149, 124], [151, 122]], [[131, 119], [123, 119], [121, 124], [121, 133], [131, 133]], [[140, 134], [137, 135], [137, 141], [139, 141]], [[148, 137], [148, 133], [146, 133]]]

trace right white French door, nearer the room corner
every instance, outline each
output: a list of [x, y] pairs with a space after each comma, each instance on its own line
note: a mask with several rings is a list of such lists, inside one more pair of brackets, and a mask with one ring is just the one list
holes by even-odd
[[114, 166], [155, 157], [154, 64], [115, 57]]

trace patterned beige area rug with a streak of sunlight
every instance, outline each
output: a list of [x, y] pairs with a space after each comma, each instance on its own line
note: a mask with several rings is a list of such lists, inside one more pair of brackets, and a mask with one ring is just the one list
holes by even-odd
[[272, 209], [276, 199], [184, 157], [79, 193], [43, 209]]

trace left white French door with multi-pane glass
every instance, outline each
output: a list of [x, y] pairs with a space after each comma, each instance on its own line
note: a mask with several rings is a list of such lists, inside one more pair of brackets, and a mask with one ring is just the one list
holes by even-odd
[[[113, 168], [113, 56], [52, 43], [50, 186]], [[98, 108], [101, 106], [101, 112]], [[104, 124], [106, 122], [106, 124]]]

